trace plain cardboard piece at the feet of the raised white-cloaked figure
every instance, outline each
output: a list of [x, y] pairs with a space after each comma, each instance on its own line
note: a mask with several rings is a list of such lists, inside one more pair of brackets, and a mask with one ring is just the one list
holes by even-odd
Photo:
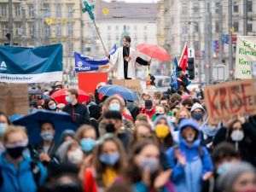
[[117, 84], [120, 86], [124, 86], [130, 90], [134, 90], [136, 92], [141, 92], [142, 86], [141, 86], [141, 81], [139, 79], [113, 79], [113, 84]]

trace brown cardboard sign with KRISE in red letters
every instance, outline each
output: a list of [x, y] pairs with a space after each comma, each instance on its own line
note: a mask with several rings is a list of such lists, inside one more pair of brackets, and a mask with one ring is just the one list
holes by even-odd
[[253, 79], [207, 86], [205, 102], [209, 122], [216, 124], [236, 115], [256, 113], [256, 82]]

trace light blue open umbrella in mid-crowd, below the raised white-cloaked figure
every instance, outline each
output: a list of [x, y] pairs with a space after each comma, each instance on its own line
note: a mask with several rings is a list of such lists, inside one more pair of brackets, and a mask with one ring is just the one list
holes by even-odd
[[104, 85], [98, 90], [98, 92], [102, 93], [104, 96], [113, 96], [117, 94], [127, 101], [133, 102], [137, 100], [136, 92], [115, 84]]

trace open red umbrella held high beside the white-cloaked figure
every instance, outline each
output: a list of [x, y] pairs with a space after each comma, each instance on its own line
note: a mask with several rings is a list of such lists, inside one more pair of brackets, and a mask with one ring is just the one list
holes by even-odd
[[171, 61], [171, 55], [167, 53], [166, 49], [156, 44], [138, 44], [137, 50], [159, 61]]

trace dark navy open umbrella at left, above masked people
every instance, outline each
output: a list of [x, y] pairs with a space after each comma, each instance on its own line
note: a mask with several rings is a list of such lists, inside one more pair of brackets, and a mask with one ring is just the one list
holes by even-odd
[[76, 131], [78, 125], [73, 123], [71, 116], [67, 113], [56, 113], [48, 110], [36, 110], [20, 119], [16, 119], [14, 125], [26, 126], [29, 143], [36, 144], [41, 141], [40, 128], [44, 122], [55, 126], [55, 141], [61, 137], [62, 131], [67, 129]]

